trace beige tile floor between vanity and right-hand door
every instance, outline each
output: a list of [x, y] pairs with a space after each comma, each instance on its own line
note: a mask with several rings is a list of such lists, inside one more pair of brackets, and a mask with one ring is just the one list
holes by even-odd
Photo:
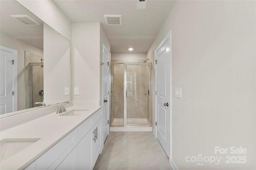
[[93, 170], [172, 170], [152, 132], [110, 132]]

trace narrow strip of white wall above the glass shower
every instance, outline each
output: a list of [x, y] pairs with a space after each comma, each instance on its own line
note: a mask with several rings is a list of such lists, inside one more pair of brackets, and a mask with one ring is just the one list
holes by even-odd
[[146, 60], [146, 53], [112, 53], [111, 60]]

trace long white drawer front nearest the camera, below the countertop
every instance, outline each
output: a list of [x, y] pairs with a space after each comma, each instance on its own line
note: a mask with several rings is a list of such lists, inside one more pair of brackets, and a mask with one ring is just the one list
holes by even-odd
[[36, 170], [56, 169], [77, 144], [76, 128], [36, 160]]

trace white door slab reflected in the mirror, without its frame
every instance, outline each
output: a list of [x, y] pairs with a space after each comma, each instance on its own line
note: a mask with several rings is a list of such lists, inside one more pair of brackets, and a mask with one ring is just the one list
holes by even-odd
[[14, 111], [13, 54], [4, 50], [0, 52], [0, 114]]

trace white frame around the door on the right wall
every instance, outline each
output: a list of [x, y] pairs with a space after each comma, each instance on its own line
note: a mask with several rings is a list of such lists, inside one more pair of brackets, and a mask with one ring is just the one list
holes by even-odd
[[[160, 45], [158, 45], [158, 47], [155, 49], [154, 51], [154, 74], [155, 74], [155, 81], [154, 81], [154, 84], [155, 84], [155, 90], [157, 89], [157, 64], [156, 64], [156, 51], [158, 51], [158, 49], [160, 49], [162, 47], [162, 45], [164, 45], [164, 43], [166, 43], [166, 41], [168, 41], [168, 39], [170, 40], [170, 146], [169, 146], [169, 152], [170, 152], [170, 155], [169, 155], [169, 162], [171, 162], [172, 160], [172, 32], [171, 30], [168, 31], [167, 35], [164, 37], [164, 39], [161, 41]], [[157, 101], [157, 97], [156, 97], [156, 93], [155, 93], [155, 103], [154, 103], [154, 106], [155, 106], [155, 121], [158, 122], [158, 112], [157, 112], [157, 104], [158, 104], [158, 101]], [[158, 126], [158, 125], [157, 125]], [[156, 131], [155, 131], [155, 136], [157, 138], [157, 127], [156, 127]]]

